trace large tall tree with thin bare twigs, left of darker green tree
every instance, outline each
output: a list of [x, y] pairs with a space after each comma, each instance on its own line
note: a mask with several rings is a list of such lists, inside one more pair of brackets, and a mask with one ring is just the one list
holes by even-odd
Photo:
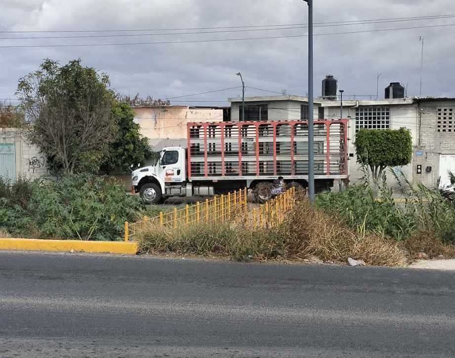
[[17, 94], [33, 123], [29, 138], [56, 172], [97, 172], [117, 128], [109, 77], [81, 60], [46, 59], [19, 79]]

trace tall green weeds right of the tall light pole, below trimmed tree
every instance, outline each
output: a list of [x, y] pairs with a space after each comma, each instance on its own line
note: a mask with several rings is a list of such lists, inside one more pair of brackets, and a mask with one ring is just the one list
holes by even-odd
[[363, 184], [342, 192], [323, 192], [316, 206], [337, 217], [352, 229], [368, 231], [396, 240], [405, 240], [415, 232], [432, 230], [442, 243], [455, 243], [455, 207], [438, 187], [413, 185], [400, 171], [391, 171], [400, 187], [404, 204], [396, 204], [385, 174], [382, 181], [366, 174]]

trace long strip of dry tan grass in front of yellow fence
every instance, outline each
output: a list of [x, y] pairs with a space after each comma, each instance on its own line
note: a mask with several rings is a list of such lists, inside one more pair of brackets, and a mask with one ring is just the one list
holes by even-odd
[[339, 221], [301, 200], [285, 223], [271, 229], [251, 229], [241, 223], [197, 224], [164, 228], [149, 225], [136, 234], [143, 252], [173, 252], [237, 260], [302, 260], [346, 263], [348, 257], [370, 265], [400, 266], [406, 262], [396, 242], [378, 235], [353, 232]]

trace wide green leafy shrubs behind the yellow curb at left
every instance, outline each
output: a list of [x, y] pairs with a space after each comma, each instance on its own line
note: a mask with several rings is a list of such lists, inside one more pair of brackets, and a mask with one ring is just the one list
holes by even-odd
[[121, 185], [84, 174], [48, 183], [18, 180], [6, 191], [0, 198], [0, 227], [25, 237], [38, 230], [45, 238], [115, 239], [140, 208], [138, 198]]

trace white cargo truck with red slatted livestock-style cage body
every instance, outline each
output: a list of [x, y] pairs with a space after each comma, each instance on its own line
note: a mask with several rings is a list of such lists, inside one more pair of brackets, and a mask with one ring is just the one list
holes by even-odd
[[[347, 119], [314, 121], [317, 190], [348, 178], [347, 129]], [[308, 185], [307, 121], [188, 123], [187, 131], [186, 148], [163, 148], [153, 165], [132, 172], [132, 191], [146, 203], [245, 187], [265, 201], [278, 176], [287, 185]]]

